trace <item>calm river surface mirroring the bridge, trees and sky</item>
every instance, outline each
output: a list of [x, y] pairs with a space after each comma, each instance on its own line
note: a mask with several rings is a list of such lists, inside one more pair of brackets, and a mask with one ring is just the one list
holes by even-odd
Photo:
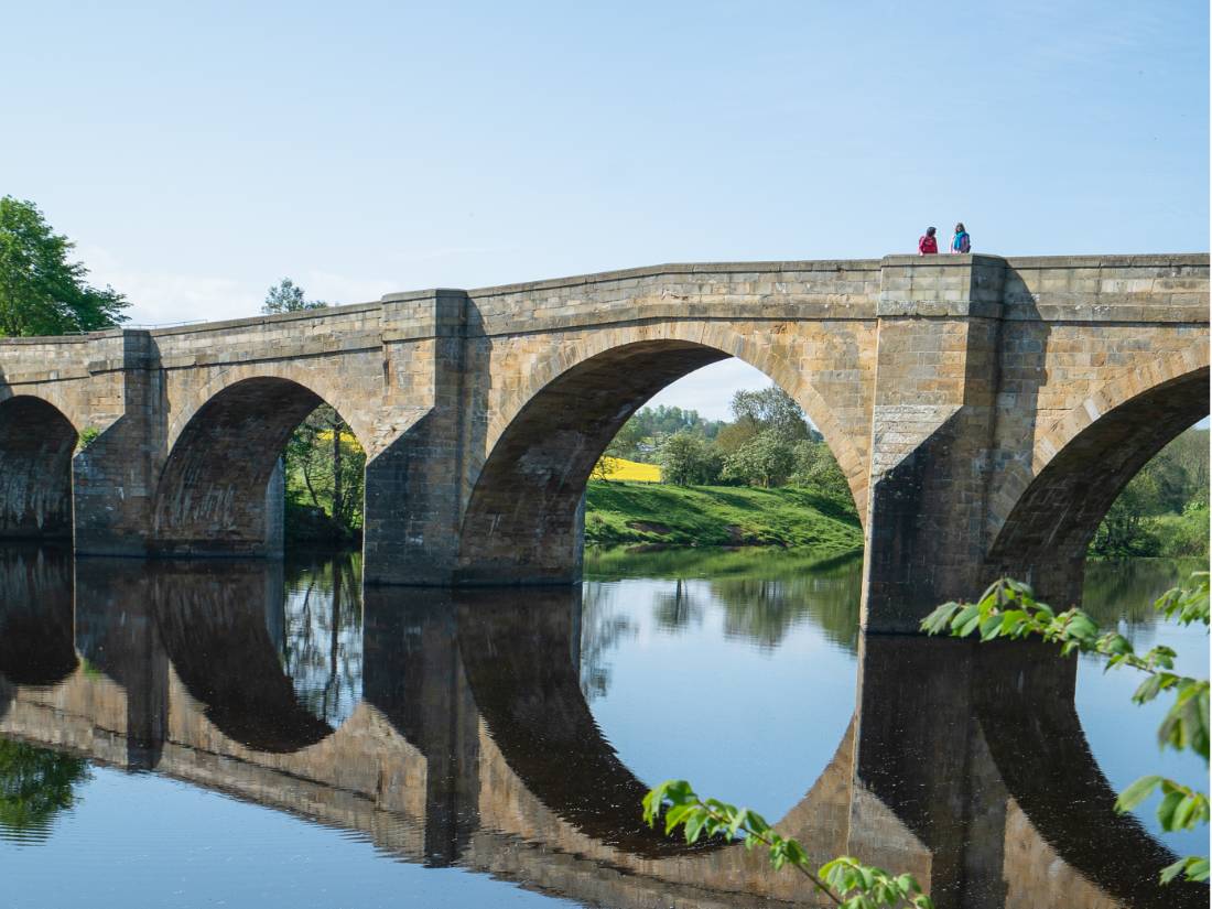
[[[1207, 674], [1092, 565], [1087, 608]], [[1110, 812], [1159, 755], [1134, 680], [1029, 645], [861, 639], [857, 562], [599, 554], [576, 590], [367, 590], [356, 558], [0, 550], [0, 905], [733, 907], [790, 875], [639, 823], [676, 776], [941, 905], [1196, 905]], [[1100, 901], [1100, 902], [1099, 902]]]

